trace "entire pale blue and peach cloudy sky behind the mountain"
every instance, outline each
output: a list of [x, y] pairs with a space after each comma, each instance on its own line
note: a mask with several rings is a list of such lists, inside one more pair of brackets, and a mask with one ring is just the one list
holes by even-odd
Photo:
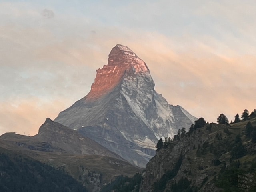
[[169, 104], [216, 122], [256, 108], [254, 0], [0, 0], [0, 135], [34, 135], [90, 91], [116, 44]]

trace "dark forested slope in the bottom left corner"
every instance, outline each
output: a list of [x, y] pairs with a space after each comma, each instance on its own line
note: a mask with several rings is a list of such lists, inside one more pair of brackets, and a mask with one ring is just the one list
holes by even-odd
[[63, 170], [0, 148], [1, 192], [87, 192]]

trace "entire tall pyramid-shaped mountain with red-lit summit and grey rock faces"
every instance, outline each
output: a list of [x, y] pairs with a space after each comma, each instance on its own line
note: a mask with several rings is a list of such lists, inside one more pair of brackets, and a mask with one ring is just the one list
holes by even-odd
[[90, 92], [54, 121], [145, 167], [160, 138], [197, 120], [181, 106], [168, 104], [154, 85], [145, 62], [118, 44], [108, 65], [97, 70]]

